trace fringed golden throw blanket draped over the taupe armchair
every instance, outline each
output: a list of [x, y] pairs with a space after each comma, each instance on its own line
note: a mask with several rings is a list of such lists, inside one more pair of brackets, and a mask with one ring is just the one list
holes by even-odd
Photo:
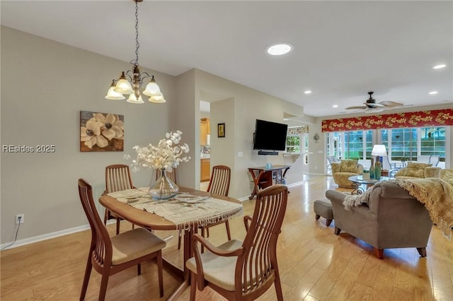
[[[440, 228], [445, 237], [452, 239], [453, 186], [451, 184], [439, 178], [391, 179], [389, 182], [403, 187], [411, 196], [423, 203], [430, 213], [432, 222]], [[345, 209], [350, 210], [351, 206], [368, 203], [372, 190], [372, 188], [367, 189], [365, 194], [359, 196], [346, 196], [343, 201]]]

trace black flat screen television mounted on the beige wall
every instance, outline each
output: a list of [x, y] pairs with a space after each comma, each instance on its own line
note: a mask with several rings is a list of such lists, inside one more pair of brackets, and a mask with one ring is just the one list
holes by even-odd
[[277, 155], [275, 151], [285, 151], [287, 129], [287, 124], [256, 119], [253, 149], [272, 151], [258, 152], [259, 155]]

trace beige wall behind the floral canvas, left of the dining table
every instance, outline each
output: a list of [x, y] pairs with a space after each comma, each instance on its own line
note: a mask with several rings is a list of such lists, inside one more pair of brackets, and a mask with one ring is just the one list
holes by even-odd
[[[76, 189], [84, 177], [95, 199], [104, 190], [106, 165], [130, 162], [132, 146], [158, 141], [171, 129], [175, 78], [156, 76], [167, 102], [132, 105], [105, 93], [130, 64], [1, 27], [1, 145], [55, 145], [55, 153], [1, 153], [1, 243], [13, 241], [16, 214], [25, 214], [18, 240], [86, 225]], [[144, 70], [143, 70], [144, 71]], [[125, 116], [125, 151], [81, 153], [79, 112]], [[185, 137], [183, 137], [185, 140]], [[193, 143], [192, 143], [193, 146]], [[151, 171], [132, 174], [149, 185]], [[98, 207], [103, 213], [103, 208]]]

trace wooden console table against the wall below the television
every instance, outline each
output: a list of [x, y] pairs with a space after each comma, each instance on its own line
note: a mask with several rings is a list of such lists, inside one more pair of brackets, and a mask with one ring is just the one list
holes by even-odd
[[248, 199], [258, 194], [259, 189], [264, 189], [272, 184], [282, 184], [289, 165], [274, 165], [273, 167], [248, 167], [253, 179], [253, 191]]

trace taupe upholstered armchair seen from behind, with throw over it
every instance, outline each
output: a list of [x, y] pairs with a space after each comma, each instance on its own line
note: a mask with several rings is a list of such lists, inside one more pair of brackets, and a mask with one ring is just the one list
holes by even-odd
[[326, 191], [332, 202], [336, 235], [343, 230], [367, 242], [379, 259], [384, 258], [384, 249], [408, 247], [426, 256], [432, 221], [423, 203], [391, 182], [379, 182], [370, 189], [368, 204], [350, 210], [343, 205], [346, 194]]

